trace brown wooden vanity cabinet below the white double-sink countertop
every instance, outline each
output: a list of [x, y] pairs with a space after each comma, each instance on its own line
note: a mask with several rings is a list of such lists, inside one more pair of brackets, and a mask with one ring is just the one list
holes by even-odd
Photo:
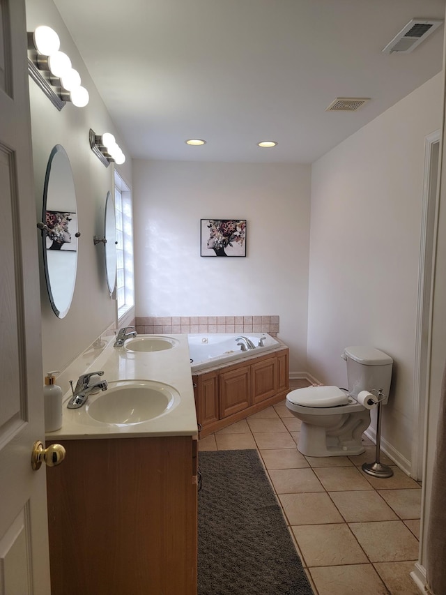
[[197, 440], [57, 442], [66, 459], [47, 473], [52, 595], [197, 595]]

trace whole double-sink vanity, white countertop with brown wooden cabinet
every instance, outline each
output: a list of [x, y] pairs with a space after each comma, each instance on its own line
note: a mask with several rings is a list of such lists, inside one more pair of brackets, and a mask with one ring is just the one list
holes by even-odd
[[[109, 388], [64, 406], [61, 430], [47, 434], [66, 449], [47, 472], [52, 595], [197, 594], [197, 418], [187, 336], [172, 338], [157, 352], [110, 342], [90, 366]], [[135, 401], [125, 423], [114, 405], [132, 398], [124, 381], [179, 398], [146, 421]]]

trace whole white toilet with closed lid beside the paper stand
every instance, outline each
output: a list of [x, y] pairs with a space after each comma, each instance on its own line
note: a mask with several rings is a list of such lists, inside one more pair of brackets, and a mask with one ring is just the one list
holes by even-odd
[[348, 391], [337, 386], [309, 386], [291, 391], [286, 407], [302, 421], [298, 450], [310, 457], [360, 455], [362, 432], [370, 410], [357, 402], [360, 391], [382, 389], [387, 403], [393, 360], [374, 347], [346, 347]]

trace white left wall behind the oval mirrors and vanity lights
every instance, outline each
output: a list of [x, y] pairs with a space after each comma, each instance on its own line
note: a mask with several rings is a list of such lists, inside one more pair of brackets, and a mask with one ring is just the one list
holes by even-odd
[[[75, 294], [70, 311], [63, 319], [58, 319], [54, 315], [49, 303], [40, 248], [45, 371], [63, 370], [115, 320], [115, 303], [109, 298], [105, 278], [104, 247], [102, 244], [93, 245], [93, 235], [102, 237], [104, 234], [105, 198], [107, 191], [112, 190], [113, 167], [106, 168], [91, 151], [89, 129], [93, 128], [98, 134], [112, 132], [124, 152], [126, 147], [114, 128], [79, 52], [52, 1], [26, 2], [27, 30], [33, 31], [38, 24], [47, 24], [59, 33], [61, 50], [70, 56], [73, 67], [81, 75], [82, 84], [90, 93], [90, 103], [86, 107], [78, 108], [68, 103], [59, 112], [36, 83], [31, 78], [29, 80], [36, 222], [42, 220], [47, 160], [53, 146], [61, 144], [70, 159], [77, 197], [78, 229], [81, 232], [78, 241]], [[130, 163], [125, 163], [121, 170], [126, 181], [131, 183]], [[38, 233], [37, 229], [36, 233]]]

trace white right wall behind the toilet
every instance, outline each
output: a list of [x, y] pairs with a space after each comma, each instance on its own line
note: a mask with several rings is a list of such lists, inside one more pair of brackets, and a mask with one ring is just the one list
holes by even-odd
[[309, 371], [346, 386], [344, 347], [392, 356], [383, 438], [407, 461], [424, 139], [440, 128], [441, 82], [436, 75], [312, 167]]

